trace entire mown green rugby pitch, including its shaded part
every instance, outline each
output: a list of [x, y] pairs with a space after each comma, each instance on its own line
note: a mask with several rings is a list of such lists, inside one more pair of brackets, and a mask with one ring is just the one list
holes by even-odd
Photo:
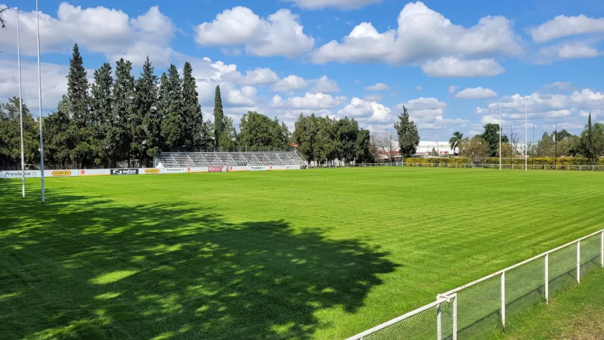
[[604, 174], [0, 181], [2, 339], [343, 339], [604, 227]]

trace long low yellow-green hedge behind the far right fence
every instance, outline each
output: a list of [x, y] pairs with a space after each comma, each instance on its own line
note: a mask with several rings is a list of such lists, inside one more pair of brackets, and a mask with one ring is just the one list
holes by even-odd
[[[422, 163], [422, 164], [470, 164], [470, 159], [464, 157], [454, 158], [407, 158], [406, 163]], [[499, 164], [499, 157], [489, 157], [483, 159], [481, 164]], [[524, 159], [503, 159], [503, 164], [524, 165]], [[604, 159], [590, 160], [583, 157], [564, 157], [558, 158], [557, 162], [554, 157], [529, 157], [529, 165], [604, 165]]]

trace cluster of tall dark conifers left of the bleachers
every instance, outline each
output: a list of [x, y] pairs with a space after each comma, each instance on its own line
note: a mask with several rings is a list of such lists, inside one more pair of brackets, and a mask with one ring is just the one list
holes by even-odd
[[67, 94], [43, 119], [45, 160], [76, 168], [149, 165], [165, 146], [212, 143], [199, 106], [191, 64], [182, 77], [175, 65], [156, 76], [147, 57], [138, 78], [132, 63], [120, 59], [94, 71], [90, 84], [79, 48], [69, 60]]

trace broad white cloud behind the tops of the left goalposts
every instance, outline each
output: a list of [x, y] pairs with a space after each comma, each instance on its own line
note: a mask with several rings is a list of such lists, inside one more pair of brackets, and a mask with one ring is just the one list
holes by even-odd
[[[14, 11], [5, 13], [14, 22]], [[40, 13], [40, 50], [42, 53], [66, 53], [72, 44], [92, 53], [103, 53], [111, 62], [124, 57], [140, 65], [147, 55], [153, 61], [167, 64], [173, 51], [170, 42], [175, 32], [172, 20], [163, 15], [157, 6], [149, 8], [136, 18], [121, 10], [105, 7], [82, 8], [67, 2], [59, 5], [57, 18]], [[19, 34], [21, 51], [37, 54], [36, 12], [20, 12]], [[16, 51], [16, 27], [8, 25], [0, 35], [4, 51]]]

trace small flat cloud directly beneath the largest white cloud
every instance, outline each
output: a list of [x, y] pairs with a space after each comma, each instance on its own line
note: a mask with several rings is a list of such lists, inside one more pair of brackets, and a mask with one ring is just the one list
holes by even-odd
[[505, 70], [494, 59], [459, 60], [442, 57], [425, 62], [422, 71], [430, 77], [488, 77], [504, 73]]

